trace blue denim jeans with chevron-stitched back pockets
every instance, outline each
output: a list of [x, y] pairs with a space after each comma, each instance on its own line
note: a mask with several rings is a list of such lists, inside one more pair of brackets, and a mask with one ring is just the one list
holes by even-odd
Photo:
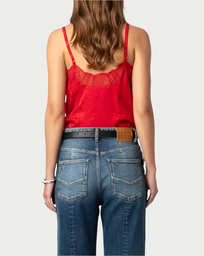
[[96, 255], [99, 205], [104, 255], [145, 255], [147, 184], [137, 138], [62, 141], [55, 184], [57, 255]]

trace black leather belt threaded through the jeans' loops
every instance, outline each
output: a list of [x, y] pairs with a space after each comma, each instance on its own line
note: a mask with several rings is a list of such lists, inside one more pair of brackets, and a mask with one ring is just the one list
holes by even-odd
[[[132, 139], [135, 139], [135, 131], [132, 129]], [[72, 138], [95, 138], [95, 131], [69, 131], [63, 132], [62, 141], [64, 139], [72, 139]], [[116, 138], [117, 131], [99, 131], [99, 138]]]

